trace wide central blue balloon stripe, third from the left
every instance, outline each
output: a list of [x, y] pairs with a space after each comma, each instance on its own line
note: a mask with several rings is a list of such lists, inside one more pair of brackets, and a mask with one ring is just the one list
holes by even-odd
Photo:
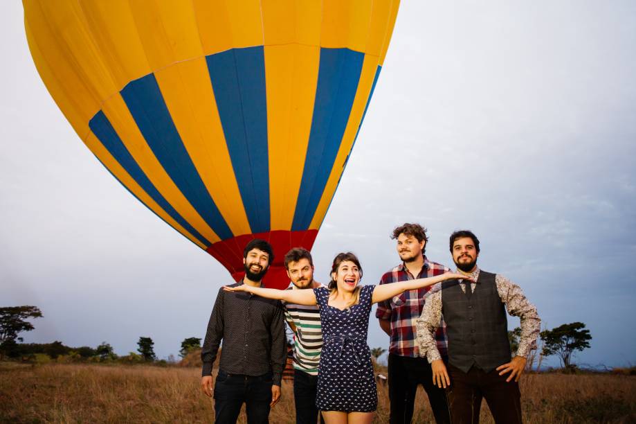
[[263, 46], [206, 57], [221, 126], [253, 233], [270, 230]]

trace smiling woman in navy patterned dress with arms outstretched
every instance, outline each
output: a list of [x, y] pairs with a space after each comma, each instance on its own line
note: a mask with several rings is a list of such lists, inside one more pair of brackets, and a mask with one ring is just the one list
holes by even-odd
[[358, 285], [361, 278], [360, 261], [356, 255], [347, 252], [334, 258], [328, 288], [276, 290], [246, 284], [225, 288], [320, 307], [324, 345], [318, 366], [316, 406], [327, 423], [370, 423], [373, 419], [378, 399], [371, 354], [367, 346], [372, 304], [390, 299], [406, 290], [466, 277], [446, 273], [428, 279], [378, 286]]

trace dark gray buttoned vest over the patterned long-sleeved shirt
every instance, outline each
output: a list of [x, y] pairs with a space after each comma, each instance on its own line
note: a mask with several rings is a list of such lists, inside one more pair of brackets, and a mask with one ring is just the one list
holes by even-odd
[[473, 364], [487, 373], [510, 361], [508, 320], [495, 274], [481, 271], [473, 294], [460, 282], [442, 283], [442, 314], [448, 336], [448, 361], [465, 373]]

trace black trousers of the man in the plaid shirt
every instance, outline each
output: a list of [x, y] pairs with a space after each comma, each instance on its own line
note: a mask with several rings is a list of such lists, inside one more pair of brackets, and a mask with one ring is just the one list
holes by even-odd
[[409, 424], [413, 418], [413, 403], [417, 386], [428, 395], [438, 424], [451, 423], [446, 392], [433, 385], [433, 371], [426, 357], [408, 357], [389, 353], [389, 399], [391, 424]]

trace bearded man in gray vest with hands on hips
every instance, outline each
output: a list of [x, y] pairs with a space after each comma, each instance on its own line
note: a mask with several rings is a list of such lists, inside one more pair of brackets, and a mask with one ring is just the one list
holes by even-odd
[[[485, 398], [496, 423], [521, 423], [518, 380], [526, 357], [536, 347], [541, 321], [518, 285], [477, 266], [479, 240], [471, 231], [455, 231], [450, 240], [457, 272], [473, 281], [444, 281], [426, 300], [417, 319], [420, 354], [426, 352], [433, 382], [448, 387], [453, 423], [478, 423]], [[521, 319], [521, 337], [514, 357], [508, 341], [506, 310]], [[448, 369], [433, 333], [444, 315], [448, 337]]]

